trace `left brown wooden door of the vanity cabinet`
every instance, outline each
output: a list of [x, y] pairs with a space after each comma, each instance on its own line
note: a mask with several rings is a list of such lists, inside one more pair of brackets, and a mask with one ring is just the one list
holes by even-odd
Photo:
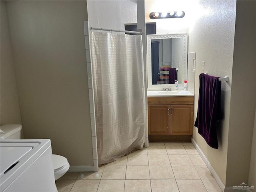
[[170, 105], [148, 105], [148, 134], [170, 135]]

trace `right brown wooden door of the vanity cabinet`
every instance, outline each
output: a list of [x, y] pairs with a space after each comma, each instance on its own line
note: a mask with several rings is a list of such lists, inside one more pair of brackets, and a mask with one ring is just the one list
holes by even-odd
[[194, 105], [171, 105], [171, 135], [192, 135]]

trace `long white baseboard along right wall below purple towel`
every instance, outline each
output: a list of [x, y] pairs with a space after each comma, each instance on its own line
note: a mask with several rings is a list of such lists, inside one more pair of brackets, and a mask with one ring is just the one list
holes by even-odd
[[[210, 170], [210, 172], [212, 173], [212, 176], [214, 176], [216, 182], [218, 183], [218, 185], [220, 186], [220, 189], [222, 191], [225, 190], [225, 185], [223, 184], [223, 182], [221, 181], [220, 177], [218, 176], [218, 174], [216, 173], [216, 171], [214, 170], [214, 168], [212, 167], [212, 165], [210, 164], [210, 162], [208, 161], [208, 159], [206, 158], [206, 156], [204, 155], [204, 153], [202, 152], [202, 150], [199, 148], [198, 144], [196, 144], [195, 140], [193, 138], [191, 138], [191, 142], [192, 144], [195, 146], [196, 150], [198, 151], [198, 153], [200, 154], [200, 156], [202, 157], [202, 159], [204, 160], [204, 163], [206, 164], [206, 166], [208, 167], [208, 169]], [[226, 192], [226, 190], [225, 190]]]

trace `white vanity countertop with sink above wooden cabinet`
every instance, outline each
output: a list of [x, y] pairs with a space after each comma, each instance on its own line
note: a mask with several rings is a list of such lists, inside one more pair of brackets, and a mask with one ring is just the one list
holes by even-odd
[[194, 96], [188, 91], [147, 91], [148, 97], [180, 97], [180, 96]]

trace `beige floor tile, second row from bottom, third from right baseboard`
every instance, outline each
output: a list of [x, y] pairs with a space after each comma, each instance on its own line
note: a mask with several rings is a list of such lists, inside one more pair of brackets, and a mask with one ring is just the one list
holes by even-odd
[[174, 179], [171, 166], [149, 166], [150, 179]]

